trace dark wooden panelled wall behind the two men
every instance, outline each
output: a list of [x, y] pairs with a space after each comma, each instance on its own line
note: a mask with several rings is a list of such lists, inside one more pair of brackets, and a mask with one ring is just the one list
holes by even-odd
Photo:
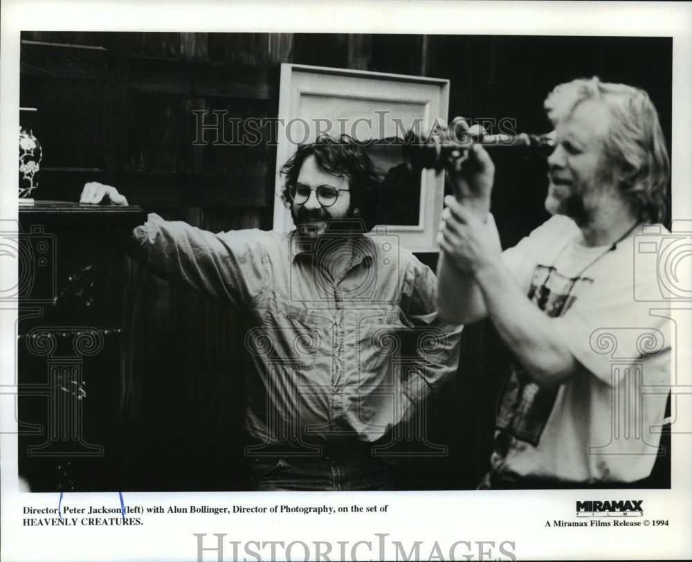
[[[193, 145], [193, 110], [277, 115], [282, 62], [451, 81], [449, 115], [513, 118], [546, 132], [543, 99], [583, 76], [649, 91], [671, 128], [668, 38], [271, 33], [24, 32], [21, 106], [37, 107], [38, 199], [75, 201], [85, 181], [208, 230], [271, 228], [275, 147]], [[545, 219], [543, 163], [505, 152], [493, 209], [505, 245]], [[89, 233], [84, 233], [89, 235]], [[421, 258], [434, 265], [435, 255]], [[233, 311], [127, 262], [120, 424], [123, 489], [242, 487], [244, 329]], [[507, 357], [492, 329], [467, 327], [448, 392], [430, 402], [444, 458], [401, 460], [407, 489], [475, 487], [491, 450]]]

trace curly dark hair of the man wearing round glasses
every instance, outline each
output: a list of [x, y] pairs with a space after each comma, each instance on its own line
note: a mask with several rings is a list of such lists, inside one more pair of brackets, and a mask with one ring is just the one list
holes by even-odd
[[365, 222], [366, 230], [377, 224], [379, 215], [380, 174], [374, 167], [363, 144], [343, 134], [338, 139], [320, 135], [314, 143], [300, 145], [298, 150], [282, 165], [280, 174], [286, 177], [281, 199], [291, 206], [289, 190], [298, 181], [300, 168], [308, 156], [314, 156], [317, 165], [336, 177], [349, 179], [351, 206], [359, 210], [358, 217]]

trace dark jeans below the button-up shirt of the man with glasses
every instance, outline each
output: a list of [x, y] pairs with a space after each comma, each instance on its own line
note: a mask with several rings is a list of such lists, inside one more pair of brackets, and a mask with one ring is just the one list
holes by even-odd
[[382, 457], [322, 455], [252, 459], [255, 491], [391, 490], [391, 465]]

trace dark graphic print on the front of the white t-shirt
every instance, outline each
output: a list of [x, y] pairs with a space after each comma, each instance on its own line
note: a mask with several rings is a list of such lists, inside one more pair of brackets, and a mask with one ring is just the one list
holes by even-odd
[[[567, 278], [552, 266], [537, 265], [528, 296], [547, 316], [554, 318], [563, 316], [581, 289], [592, 282], [590, 278]], [[513, 364], [502, 395], [498, 429], [533, 446], [538, 445], [559, 388], [538, 386], [529, 379], [525, 368]]]

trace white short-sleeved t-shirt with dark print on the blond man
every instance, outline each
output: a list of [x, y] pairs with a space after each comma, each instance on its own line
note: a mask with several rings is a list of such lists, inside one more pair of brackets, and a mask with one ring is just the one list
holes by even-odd
[[665, 302], [637, 300], [660, 290], [655, 260], [638, 259], [636, 239], [584, 246], [574, 221], [555, 216], [504, 252], [582, 368], [554, 388], [513, 368], [493, 473], [585, 483], [649, 475], [670, 390], [672, 321]]

